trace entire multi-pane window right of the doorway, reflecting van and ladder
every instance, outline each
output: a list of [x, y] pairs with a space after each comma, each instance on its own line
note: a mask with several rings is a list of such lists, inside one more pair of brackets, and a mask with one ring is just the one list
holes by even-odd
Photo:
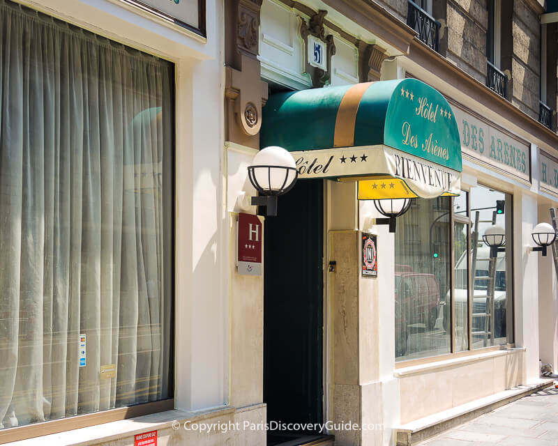
[[[395, 233], [395, 360], [513, 342], [511, 195], [478, 185], [414, 204]], [[495, 258], [492, 224], [507, 240]]]

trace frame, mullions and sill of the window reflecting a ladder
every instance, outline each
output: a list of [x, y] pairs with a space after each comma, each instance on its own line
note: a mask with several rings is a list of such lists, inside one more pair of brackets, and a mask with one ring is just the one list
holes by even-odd
[[[395, 361], [395, 369], [402, 369], [405, 367], [412, 367], [415, 365], [429, 364], [432, 362], [439, 362], [443, 360], [455, 359], [458, 357], [466, 357], [469, 355], [478, 355], [481, 353], [488, 353], [490, 351], [501, 350], [502, 348], [513, 348], [515, 347], [515, 302], [514, 302], [514, 288], [513, 288], [513, 194], [500, 190], [497, 187], [492, 187], [484, 183], [478, 183], [477, 186], [486, 187], [488, 189], [497, 190], [502, 192], [509, 197], [506, 199], [506, 232], [510, 234], [510, 240], [506, 237], [506, 247], [511, 249], [511, 255], [506, 255], [506, 272], [511, 272], [511, 274], [506, 274], [506, 290], [510, 289], [509, 295], [506, 295], [506, 344], [492, 345], [481, 348], [473, 348], [473, 330], [472, 330], [472, 314], [473, 314], [473, 274], [471, 271], [472, 265], [472, 240], [471, 240], [471, 229], [472, 229], [472, 215], [471, 215], [471, 199], [470, 199], [470, 189], [462, 189], [462, 192], [467, 194], [467, 217], [462, 217], [460, 215], [455, 215], [453, 208], [453, 203], [455, 201], [452, 198], [451, 204], [451, 217], [450, 217], [450, 233], [451, 233], [451, 265], [453, 268], [451, 274], [451, 311], [450, 311], [450, 336], [451, 336], [451, 353], [444, 353], [442, 355], [434, 355], [428, 357], [421, 357], [412, 360], [400, 360]], [[509, 201], [509, 203], [508, 203]], [[455, 351], [455, 223], [465, 223], [467, 224], [467, 330], [468, 330], [468, 346], [467, 350], [460, 352]], [[509, 229], [508, 229], [509, 226]], [[506, 253], [507, 254], [507, 253]], [[506, 291], [507, 293], [507, 291]]]

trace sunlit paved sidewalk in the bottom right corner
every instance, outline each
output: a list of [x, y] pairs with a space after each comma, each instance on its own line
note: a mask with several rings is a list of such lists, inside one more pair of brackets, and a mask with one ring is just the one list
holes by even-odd
[[558, 446], [558, 389], [548, 387], [417, 446]]

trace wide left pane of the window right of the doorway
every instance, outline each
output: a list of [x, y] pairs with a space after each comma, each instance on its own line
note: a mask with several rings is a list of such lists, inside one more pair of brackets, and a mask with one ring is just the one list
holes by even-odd
[[414, 203], [398, 217], [395, 233], [397, 360], [451, 351], [451, 335], [444, 328], [451, 310], [451, 197]]

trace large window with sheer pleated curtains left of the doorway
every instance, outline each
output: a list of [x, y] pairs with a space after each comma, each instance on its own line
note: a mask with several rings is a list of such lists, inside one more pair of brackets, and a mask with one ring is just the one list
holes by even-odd
[[174, 68], [0, 2], [0, 428], [168, 399]]

